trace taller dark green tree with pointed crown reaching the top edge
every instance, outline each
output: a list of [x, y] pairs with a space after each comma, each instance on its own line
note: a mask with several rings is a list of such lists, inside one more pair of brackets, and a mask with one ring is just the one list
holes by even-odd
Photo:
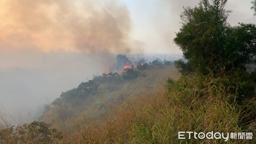
[[224, 9], [227, 0], [201, 0], [195, 8], [184, 8], [180, 15], [183, 25], [174, 41], [189, 60], [192, 69], [207, 74], [208, 69], [217, 68], [227, 16], [231, 11]]

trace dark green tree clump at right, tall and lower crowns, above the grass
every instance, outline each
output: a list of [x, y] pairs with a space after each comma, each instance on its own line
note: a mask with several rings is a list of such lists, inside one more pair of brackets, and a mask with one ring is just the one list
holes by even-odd
[[188, 59], [189, 69], [230, 75], [237, 69], [245, 71], [246, 65], [253, 62], [255, 25], [241, 23], [231, 27], [227, 23], [231, 11], [224, 9], [226, 3], [227, 0], [201, 0], [199, 6], [184, 8], [180, 15], [183, 25], [174, 41]]

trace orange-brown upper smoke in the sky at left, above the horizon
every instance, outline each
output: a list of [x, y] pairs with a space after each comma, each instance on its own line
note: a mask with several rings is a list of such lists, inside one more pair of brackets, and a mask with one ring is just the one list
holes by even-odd
[[131, 51], [129, 12], [115, 0], [3, 0], [0, 9], [0, 51]]

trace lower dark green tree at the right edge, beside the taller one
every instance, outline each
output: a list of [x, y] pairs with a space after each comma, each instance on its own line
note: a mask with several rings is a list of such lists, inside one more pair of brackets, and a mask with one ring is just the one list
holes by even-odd
[[[256, 25], [239, 23], [229, 27], [223, 44], [221, 63], [226, 71], [248, 71], [255, 67]], [[254, 69], [255, 70], [255, 69]]]

